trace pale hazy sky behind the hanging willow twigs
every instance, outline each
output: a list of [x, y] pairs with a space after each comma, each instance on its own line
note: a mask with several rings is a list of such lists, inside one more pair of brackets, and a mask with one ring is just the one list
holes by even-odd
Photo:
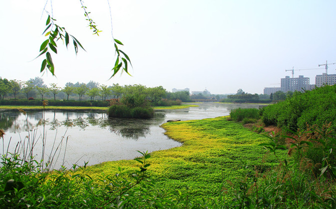
[[[335, 0], [84, 0], [102, 30], [93, 35], [80, 0], [0, 1], [0, 76], [46, 84], [90, 80], [212, 94], [263, 93], [280, 78], [336, 74]], [[110, 7], [109, 7], [110, 5]], [[45, 7], [45, 10], [44, 10]], [[110, 12], [111, 8], [111, 12]], [[47, 12], [84, 46], [58, 41], [55, 74], [40, 73]], [[111, 24], [112, 17], [112, 24]], [[113, 27], [113, 28], [112, 28]], [[112, 30], [113, 29], [113, 30]], [[113, 31], [113, 36], [111, 31]], [[113, 38], [123, 42], [132, 76], [112, 75]], [[321, 68], [314, 70], [306, 70]], [[300, 70], [302, 69], [302, 70]]]

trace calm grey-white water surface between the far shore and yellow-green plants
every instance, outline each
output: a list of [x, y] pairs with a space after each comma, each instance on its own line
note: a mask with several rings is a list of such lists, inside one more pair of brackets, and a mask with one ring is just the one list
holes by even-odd
[[[164, 135], [160, 125], [170, 119], [198, 120], [228, 115], [234, 108], [258, 108], [257, 105], [199, 103], [199, 107], [156, 110], [153, 119], [109, 119], [104, 111], [0, 111], [0, 129], [4, 129], [5, 152], [14, 152], [18, 142], [34, 146], [33, 155], [41, 159], [45, 138], [45, 159], [53, 157], [55, 168], [64, 164], [88, 165], [105, 161], [134, 159], [139, 151], [153, 152], [181, 146]], [[45, 118], [45, 126], [43, 125]], [[45, 133], [45, 137], [43, 137]], [[28, 138], [31, 139], [30, 144]], [[34, 139], [34, 141], [33, 141]], [[3, 142], [0, 142], [3, 153]], [[33, 145], [34, 144], [34, 145]], [[20, 151], [25, 153], [27, 149]], [[55, 152], [56, 151], [56, 152]], [[56, 154], [55, 154], [56, 153]], [[63, 161], [64, 159], [64, 161]], [[55, 162], [56, 161], [56, 162]]]

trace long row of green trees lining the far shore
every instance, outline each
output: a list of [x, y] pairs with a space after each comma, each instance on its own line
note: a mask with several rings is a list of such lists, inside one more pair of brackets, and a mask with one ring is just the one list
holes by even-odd
[[[76, 98], [77, 96], [77, 98]], [[162, 99], [188, 102], [189, 92], [167, 92], [162, 86], [149, 88], [143, 85], [125, 85], [118, 83], [112, 86], [100, 85], [98, 82], [68, 82], [62, 88], [56, 83], [46, 85], [42, 78], [31, 78], [28, 81], [8, 80], [0, 77], [0, 99], [64, 99], [64, 100], [107, 100], [132, 97], [136, 100], [147, 100], [153, 105], [161, 104]]]

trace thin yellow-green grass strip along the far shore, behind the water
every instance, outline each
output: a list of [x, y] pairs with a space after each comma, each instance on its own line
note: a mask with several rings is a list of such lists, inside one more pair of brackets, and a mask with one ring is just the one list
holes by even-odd
[[[164, 110], [164, 109], [183, 109], [189, 107], [198, 107], [198, 105], [191, 105], [191, 104], [182, 104], [182, 105], [173, 105], [168, 107], [153, 107], [154, 110]], [[23, 110], [108, 110], [108, 107], [81, 107], [81, 106], [17, 106], [17, 105], [2, 105], [0, 109], [3, 110], [16, 110], [16, 109], [23, 109]]]

